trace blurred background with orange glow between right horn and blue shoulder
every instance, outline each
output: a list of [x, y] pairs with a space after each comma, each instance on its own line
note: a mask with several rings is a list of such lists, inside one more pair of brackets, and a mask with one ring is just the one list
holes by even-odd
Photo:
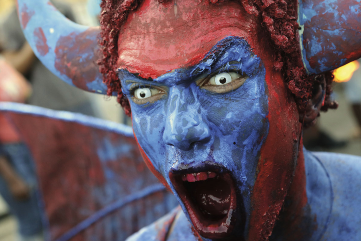
[[[361, 59], [334, 71], [332, 97], [339, 102], [336, 110], [321, 113], [316, 125], [304, 131], [303, 141], [311, 151], [343, 152], [361, 155], [361, 145], [348, 146], [361, 139]], [[327, 118], [338, 119], [338, 123]], [[323, 125], [322, 125], [323, 124]], [[340, 133], [343, 132], [343, 133]], [[338, 138], [334, 137], [338, 136]], [[342, 150], [343, 148], [343, 150]]]

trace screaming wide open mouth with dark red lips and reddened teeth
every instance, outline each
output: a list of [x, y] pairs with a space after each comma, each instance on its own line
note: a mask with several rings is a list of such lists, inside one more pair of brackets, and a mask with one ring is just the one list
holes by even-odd
[[197, 232], [206, 238], [229, 236], [237, 207], [231, 174], [214, 169], [189, 171], [169, 172], [169, 177]]

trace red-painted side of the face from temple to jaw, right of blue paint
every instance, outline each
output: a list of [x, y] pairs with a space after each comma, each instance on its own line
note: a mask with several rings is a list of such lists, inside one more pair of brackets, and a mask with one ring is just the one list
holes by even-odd
[[251, 219], [251, 226], [255, 228], [250, 231], [250, 236], [261, 239], [272, 230], [283, 205], [295, 169], [300, 135], [297, 106], [289, 96], [282, 76], [272, 69], [267, 73], [270, 127], [257, 166], [252, 196], [255, 211]]

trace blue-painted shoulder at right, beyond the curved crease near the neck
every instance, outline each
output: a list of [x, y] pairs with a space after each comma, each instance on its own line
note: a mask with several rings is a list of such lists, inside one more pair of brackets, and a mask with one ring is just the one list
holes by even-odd
[[333, 205], [321, 240], [361, 240], [361, 157], [313, 153], [329, 174]]

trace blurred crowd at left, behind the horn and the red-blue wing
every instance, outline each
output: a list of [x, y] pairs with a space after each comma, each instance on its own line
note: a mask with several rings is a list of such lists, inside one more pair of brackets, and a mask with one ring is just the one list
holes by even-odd
[[[89, 26], [98, 24], [97, 0], [52, 3], [74, 22]], [[22, 32], [15, 0], [0, 0], [0, 101], [27, 103], [129, 124], [115, 99], [104, 101], [103, 96], [66, 84], [37, 59]], [[38, 183], [31, 159], [17, 130], [0, 114], [0, 195], [18, 223], [15, 235], [0, 235], [0, 240], [44, 240]]]

